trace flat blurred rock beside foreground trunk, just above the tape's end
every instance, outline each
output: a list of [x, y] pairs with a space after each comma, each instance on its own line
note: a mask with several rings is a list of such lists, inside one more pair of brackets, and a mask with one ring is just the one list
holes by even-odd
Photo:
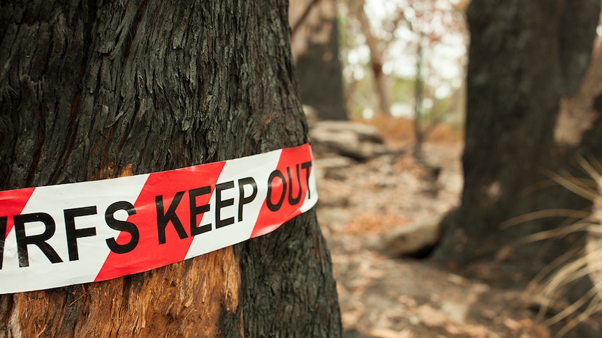
[[366, 161], [390, 153], [376, 128], [351, 121], [318, 121], [309, 130], [316, 153], [334, 153]]

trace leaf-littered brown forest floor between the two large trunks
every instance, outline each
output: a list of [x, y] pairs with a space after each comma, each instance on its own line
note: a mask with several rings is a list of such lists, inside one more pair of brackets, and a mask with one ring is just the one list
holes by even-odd
[[468, 279], [430, 259], [379, 252], [384, 233], [445, 215], [459, 203], [461, 137], [439, 134], [424, 146], [425, 162], [441, 168], [437, 178], [413, 159], [411, 141], [386, 135], [395, 155], [328, 173], [316, 162], [318, 221], [337, 279], [343, 337], [552, 337], [522, 289]]

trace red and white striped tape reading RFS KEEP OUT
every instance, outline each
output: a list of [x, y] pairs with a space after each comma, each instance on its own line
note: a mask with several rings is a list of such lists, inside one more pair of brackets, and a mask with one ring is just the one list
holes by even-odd
[[0, 192], [0, 294], [98, 282], [277, 229], [316, 204], [309, 144]]

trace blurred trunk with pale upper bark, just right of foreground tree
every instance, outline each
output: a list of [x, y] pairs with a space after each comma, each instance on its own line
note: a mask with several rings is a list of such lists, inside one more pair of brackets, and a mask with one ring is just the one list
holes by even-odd
[[318, 118], [346, 120], [335, 0], [292, 0], [289, 10], [295, 74], [304, 105]]

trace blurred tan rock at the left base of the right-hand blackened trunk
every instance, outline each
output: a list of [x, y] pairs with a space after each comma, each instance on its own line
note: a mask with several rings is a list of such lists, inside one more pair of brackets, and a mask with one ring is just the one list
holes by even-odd
[[382, 247], [379, 251], [392, 257], [424, 257], [439, 242], [442, 220], [443, 215], [436, 215], [399, 226], [383, 235], [381, 238]]

